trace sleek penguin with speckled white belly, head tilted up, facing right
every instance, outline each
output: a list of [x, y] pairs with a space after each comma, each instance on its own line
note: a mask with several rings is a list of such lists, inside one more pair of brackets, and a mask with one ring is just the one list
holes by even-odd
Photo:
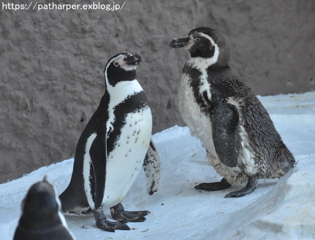
[[[152, 116], [136, 79], [140, 55], [120, 53], [108, 60], [105, 93], [83, 130], [75, 151], [68, 187], [60, 195], [63, 212], [94, 214], [106, 231], [130, 230], [126, 222], [142, 222], [150, 212], [125, 211], [126, 196], [141, 166], [152, 195], [160, 184], [160, 160], [151, 139]], [[106, 219], [104, 210], [119, 222]]]

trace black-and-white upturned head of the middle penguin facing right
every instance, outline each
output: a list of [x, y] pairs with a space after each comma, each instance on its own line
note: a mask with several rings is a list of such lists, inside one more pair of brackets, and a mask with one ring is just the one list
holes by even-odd
[[114, 87], [118, 82], [136, 79], [136, 68], [141, 60], [140, 55], [129, 53], [120, 53], [112, 57], [104, 69], [106, 85]]

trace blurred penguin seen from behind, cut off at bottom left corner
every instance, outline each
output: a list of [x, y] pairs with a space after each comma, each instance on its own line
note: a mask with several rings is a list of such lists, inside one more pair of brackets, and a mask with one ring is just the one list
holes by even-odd
[[31, 186], [13, 240], [75, 240], [69, 231], [56, 188], [45, 177]]

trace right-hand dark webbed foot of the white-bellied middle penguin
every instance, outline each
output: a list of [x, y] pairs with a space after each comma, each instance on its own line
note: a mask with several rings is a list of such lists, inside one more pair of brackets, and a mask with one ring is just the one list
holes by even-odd
[[125, 211], [124, 206], [119, 203], [110, 208], [112, 217], [120, 222], [144, 222], [147, 220], [144, 216], [148, 215], [150, 211]]

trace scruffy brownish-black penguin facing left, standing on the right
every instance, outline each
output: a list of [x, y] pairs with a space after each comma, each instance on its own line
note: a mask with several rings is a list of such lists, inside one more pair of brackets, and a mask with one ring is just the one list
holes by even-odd
[[216, 191], [246, 182], [225, 198], [252, 193], [258, 179], [281, 178], [295, 165], [273, 121], [252, 90], [229, 67], [230, 49], [218, 30], [199, 27], [173, 39], [172, 48], [189, 50], [179, 87], [179, 111], [206, 148], [220, 182], [196, 189]]

